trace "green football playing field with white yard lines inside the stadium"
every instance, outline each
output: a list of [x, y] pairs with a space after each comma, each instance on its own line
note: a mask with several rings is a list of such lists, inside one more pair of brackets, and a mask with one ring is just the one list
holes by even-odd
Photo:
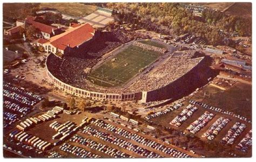
[[104, 62], [89, 74], [88, 79], [99, 86], [121, 86], [138, 74], [140, 69], [156, 61], [159, 56], [158, 52], [145, 51], [143, 48], [130, 45], [114, 57], [116, 61]]

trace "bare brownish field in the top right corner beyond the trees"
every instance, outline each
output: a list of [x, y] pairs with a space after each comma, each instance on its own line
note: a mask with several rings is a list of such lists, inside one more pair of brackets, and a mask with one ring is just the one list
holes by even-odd
[[252, 3], [239, 3], [236, 2], [225, 13], [227, 15], [234, 15], [243, 18], [252, 18]]

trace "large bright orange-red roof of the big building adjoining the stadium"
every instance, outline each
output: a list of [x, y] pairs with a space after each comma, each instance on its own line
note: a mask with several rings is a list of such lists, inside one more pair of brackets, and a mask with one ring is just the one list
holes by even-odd
[[65, 50], [66, 47], [76, 47], [93, 37], [95, 30], [90, 24], [84, 24], [76, 30], [65, 34], [64, 36], [53, 40], [51, 44], [60, 50]]

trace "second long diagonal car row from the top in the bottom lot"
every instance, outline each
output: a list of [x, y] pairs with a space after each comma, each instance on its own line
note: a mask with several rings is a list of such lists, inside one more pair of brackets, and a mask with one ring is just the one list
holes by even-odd
[[106, 142], [112, 143], [114, 145], [117, 145], [119, 147], [122, 147], [126, 150], [130, 150], [132, 152], [135, 152], [137, 154], [140, 154], [141, 156], [144, 156], [146, 158], [159, 158], [159, 154], [149, 151], [147, 149], [144, 149], [143, 147], [140, 147], [138, 145], [134, 145], [130, 142], [127, 142], [124, 139], [120, 139], [116, 136], [110, 135], [109, 133], [105, 133], [102, 131], [99, 131], [97, 129], [91, 128], [90, 126], [85, 126], [84, 129], [82, 130], [83, 133], [97, 137], [99, 139], [103, 139]]

